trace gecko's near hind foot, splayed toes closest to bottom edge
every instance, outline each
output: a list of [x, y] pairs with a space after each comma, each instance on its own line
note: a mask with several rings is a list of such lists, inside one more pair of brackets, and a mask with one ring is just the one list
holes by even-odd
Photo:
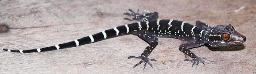
[[128, 57], [128, 59], [131, 59], [131, 58], [141, 59], [141, 61], [139, 63], [137, 63], [136, 65], [134, 65], [133, 68], [140, 65], [141, 63], [144, 63], [143, 70], [145, 69], [147, 63], [148, 63], [148, 65], [150, 65], [153, 68], [153, 65], [150, 63], [150, 61], [156, 61], [156, 59], [149, 59], [148, 57], [143, 57], [143, 56], [139, 56], [139, 57], [130, 56], [130, 57]]

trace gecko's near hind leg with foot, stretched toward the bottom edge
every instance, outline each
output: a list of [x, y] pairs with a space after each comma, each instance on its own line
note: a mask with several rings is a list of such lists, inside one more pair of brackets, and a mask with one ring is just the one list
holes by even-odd
[[135, 56], [128, 57], [128, 59], [131, 59], [131, 58], [141, 59], [141, 61], [139, 63], [137, 63], [136, 65], [134, 65], [133, 68], [140, 65], [141, 63], [144, 63], [143, 70], [145, 69], [147, 63], [148, 63], [148, 65], [150, 65], [153, 68], [150, 61], [156, 61], [156, 59], [149, 59], [148, 55], [150, 55], [150, 53], [153, 51], [153, 49], [157, 46], [158, 38], [156, 38], [156, 36], [152, 35], [151, 33], [147, 32], [145, 30], [135, 31], [132, 34], [137, 35], [138, 37], [140, 37], [142, 40], [146, 41], [149, 44], [139, 57], [135, 57]]

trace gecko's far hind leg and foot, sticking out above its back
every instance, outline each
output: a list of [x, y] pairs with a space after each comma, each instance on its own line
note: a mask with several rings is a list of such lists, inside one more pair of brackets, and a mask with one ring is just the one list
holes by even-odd
[[134, 11], [132, 11], [132, 9], [128, 9], [128, 11], [132, 12], [132, 13], [124, 13], [124, 15], [128, 15], [128, 16], [134, 16], [132, 17], [132, 19], [129, 18], [124, 18], [128, 21], [132, 21], [132, 20], [136, 20], [136, 21], [152, 21], [157, 19], [158, 17], [158, 13], [157, 12], [148, 12], [148, 11], [144, 11], [144, 13], [140, 14], [139, 13], [139, 9], [138, 11], [135, 13]]

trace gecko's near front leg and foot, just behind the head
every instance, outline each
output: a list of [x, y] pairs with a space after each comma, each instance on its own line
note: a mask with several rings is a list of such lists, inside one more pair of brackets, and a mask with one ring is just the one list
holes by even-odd
[[192, 64], [192, 67], [196, 64], [196, 67], [197, 65], [199, 64], [199, 62], [204, 63], [204, 61], [202, 61], [202, 59], [206, 59], [206, 57], [198, 57], [196, 56], [192, 51], [190, 51], [189, 49], [193, 48], [193, 47], [199, 47], [199, 46], [202, 46], [204, 45], [204, 43], [201, 43], [201, 42], [191, 42], [191, 43], [185, 43], [185, 44], [182, 44], [180, 45], [179, 47], [179, 50], [182, 51], [183, 53], [185, 53], [186, 55], [188, 55], [189, 57], [192, 58], [192, 60], [189, 60], [189, 59], [185, 59], [184, 61], [190, 61]]

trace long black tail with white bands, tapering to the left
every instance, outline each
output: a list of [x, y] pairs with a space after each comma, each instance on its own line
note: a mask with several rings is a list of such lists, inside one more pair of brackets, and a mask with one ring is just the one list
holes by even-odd
[[134, 25], [138, 25], [138, 23], [132, 23], [132, 24], [129, 24], [129, 25], [114, 27], [112, 29], [103, 30], [102, 32], [99, 32], [97, 34], [86, 36], [84, 38], [80, 38], [80, 39], [74, 40], [72, 42], [67, 42], [67, 43], [64, 43], [64, 44], [58, 44], [58, 45], [50, 46], [50, 47], [44, 47], [44, 48], [40, 48], [40, 49], [29, 49], [29, 50], [2, 49], [2, 50], [9, 51], [9, 52], [18, 52], [18, 53], [32, 53], [32, 52], [44, 52], [44, 51], [52, 51], [52, 50], [69, 48], [69, 47], [76, 47], [76, 46], [81, 46], [81, 45], [84, 45], [84, 44], [90, 44], [90, 43], [93, 43], [93, 42], [98, 42], [98, 41], [101, 41], [101, 40], [105, 40], [107, 38], [113, 38], [113, 37], [116, 37], [116, 36], [121, 36], [121, 35], [124, 35], [124, 34], [128, 34], [132, 31], [132, 30], [130, 30], [129, 27], [133, 27]]

